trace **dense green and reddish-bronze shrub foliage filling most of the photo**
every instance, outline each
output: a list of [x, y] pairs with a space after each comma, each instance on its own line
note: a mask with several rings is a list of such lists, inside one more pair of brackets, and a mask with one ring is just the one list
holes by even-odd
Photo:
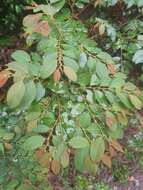
[[[44, 190], [47, 173], [59, 174], [70, 160], [77, 171], [96, 173], [102, 163], [111, 168], [116, 152], [124, 153], [118, 139], [131, 117], [141, 120], [143, 95], [123, 71], [129, 61], [143, 62], [143, 23], [131, 20], [122, 31], [105, 20], [104, 10], [135, 6], [142, 15], [142, 5], [50, 0], [31, 7], [23, 20], [29, 50], [15, 51], [0, 73], [0, 87], [12, 82], [0, 108], [2, 189]], [[84, 22], [89, 6], [100, 13]], [[135, 30], [140, 34], [128, 45], [124, 32]]]

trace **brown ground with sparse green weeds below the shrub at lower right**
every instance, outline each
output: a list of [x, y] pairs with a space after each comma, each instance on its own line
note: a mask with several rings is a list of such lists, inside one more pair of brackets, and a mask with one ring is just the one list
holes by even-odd
[[[54, 190], [143, 190], [143, 165], [140, 165], [143, 149], [128, 147], [129, 140], [140, 134], [142, 129], [143, 126], [130, 127], [125, 131], [121, 143], [127, 149], [125, 155], [114, 158], [112, 170], [103, 167], [96, 176], [88, 176], [80, 175], [70, 168], [68, 177], [66, 174], [58, 177], [49, 174], [48, 181]], [[68, 183], [65, 184], [65, 181]]]

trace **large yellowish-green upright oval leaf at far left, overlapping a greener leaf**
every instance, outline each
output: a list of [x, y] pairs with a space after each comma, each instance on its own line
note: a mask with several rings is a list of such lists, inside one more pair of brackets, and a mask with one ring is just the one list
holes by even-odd
[[23, 81], [19, 81], [16, 82], [15, 84], [13, 84], [7, 94], [7, 103], [11, 108], [16, 108], [25, 93], [25, 85], [23, 83]]

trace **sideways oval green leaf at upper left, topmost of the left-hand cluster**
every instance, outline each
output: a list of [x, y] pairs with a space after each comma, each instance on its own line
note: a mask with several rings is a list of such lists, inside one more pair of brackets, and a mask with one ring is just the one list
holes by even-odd
[[24, 50], [15, 51], [11, 57], [18, 63], [29, 63], [31, 61], [29, 54]]

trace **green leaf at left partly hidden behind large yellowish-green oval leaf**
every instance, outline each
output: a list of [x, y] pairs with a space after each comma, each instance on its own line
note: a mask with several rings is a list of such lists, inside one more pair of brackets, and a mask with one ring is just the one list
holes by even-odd
[[19, 110], [27, 109], [36, 97], [36, 86], [33, 81], [29, 81], [25, 84], [25, 93], [18, 106]]

